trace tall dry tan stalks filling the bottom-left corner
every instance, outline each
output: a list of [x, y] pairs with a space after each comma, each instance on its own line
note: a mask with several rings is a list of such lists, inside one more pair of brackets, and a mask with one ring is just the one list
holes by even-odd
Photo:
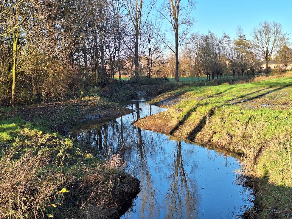
[[58, 193], [66, 177], [48, 168], [46, 155], [28, 151], [14, 159], [7, 151], [0, 160], [0, 218], [44, 218], [62, 203]]

